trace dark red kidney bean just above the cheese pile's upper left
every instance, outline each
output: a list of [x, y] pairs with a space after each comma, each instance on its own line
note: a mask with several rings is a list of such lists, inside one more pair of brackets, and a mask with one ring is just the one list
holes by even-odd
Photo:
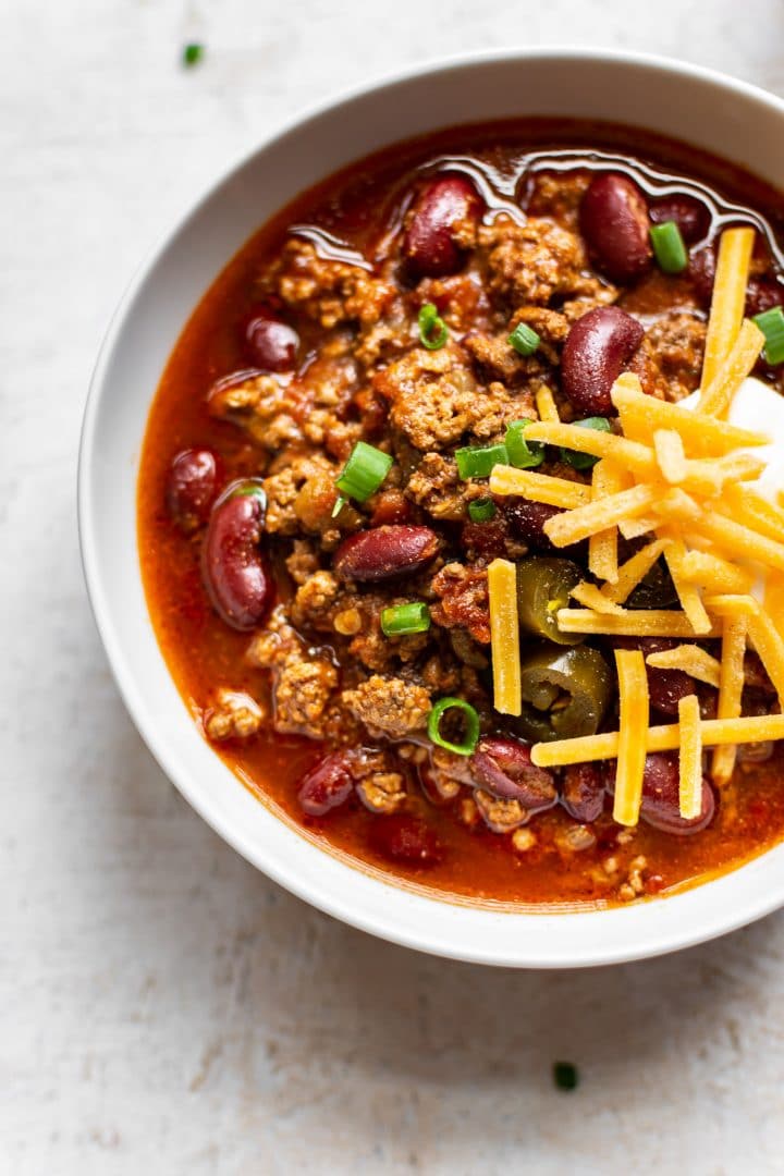
[[610, 390], [643, 334], [641, 323], [617, 306], [597, 306], [577, 320], [563, 345], [561, 386], [579, 413], [614, 412]]

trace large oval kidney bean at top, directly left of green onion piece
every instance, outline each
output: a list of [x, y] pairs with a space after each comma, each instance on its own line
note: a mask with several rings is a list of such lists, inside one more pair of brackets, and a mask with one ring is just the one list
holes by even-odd
[[631, 282], [646, 269], [652, 253], [648, 205], [628, 176], [607, 172], [591, 180], [579, 205], [579, 228], [612, 281]]

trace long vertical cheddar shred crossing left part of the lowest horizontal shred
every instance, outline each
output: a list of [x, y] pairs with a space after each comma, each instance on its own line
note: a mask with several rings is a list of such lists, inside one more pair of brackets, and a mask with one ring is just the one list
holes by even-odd
[[639, 649], [616, 649], [618, 673], [618, 767], [615, 777], [612, 820], [635, 826], [639, 817], [645, 771], [645, 743], [639, 737], [648, 728], [648, 675]]

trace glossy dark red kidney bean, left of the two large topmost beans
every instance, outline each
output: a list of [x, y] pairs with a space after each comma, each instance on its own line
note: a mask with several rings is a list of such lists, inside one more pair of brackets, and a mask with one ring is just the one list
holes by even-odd
[[465, 256], [457, 234], [461, 222], [476, 223], [484, 201], [464, 175], [442, 175], [417, 198], [403, 238], [403, 256], [416, 278], [455, 274]]

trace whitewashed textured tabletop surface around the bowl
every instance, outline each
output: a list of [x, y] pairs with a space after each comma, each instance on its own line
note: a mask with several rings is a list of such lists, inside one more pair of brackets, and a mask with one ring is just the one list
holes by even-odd
[[[567, 33], [784, 92], [779, 0], [746, 0], [742, 18], [732, 0], [13, 7], [0, 1171], [780, 1172], [783, 916], [652, 963], [536, 975], [417, 956], [317, 915], [223, 846], [142, 747], [93, 629], [74, 512], [112, 307], [192, 193], [268, 128], [434, 52]], [[190, 39], [208, 59], [183, 73]], [[552, 1089], [556, 1057], [579, 1064], [577, 1094]]]

